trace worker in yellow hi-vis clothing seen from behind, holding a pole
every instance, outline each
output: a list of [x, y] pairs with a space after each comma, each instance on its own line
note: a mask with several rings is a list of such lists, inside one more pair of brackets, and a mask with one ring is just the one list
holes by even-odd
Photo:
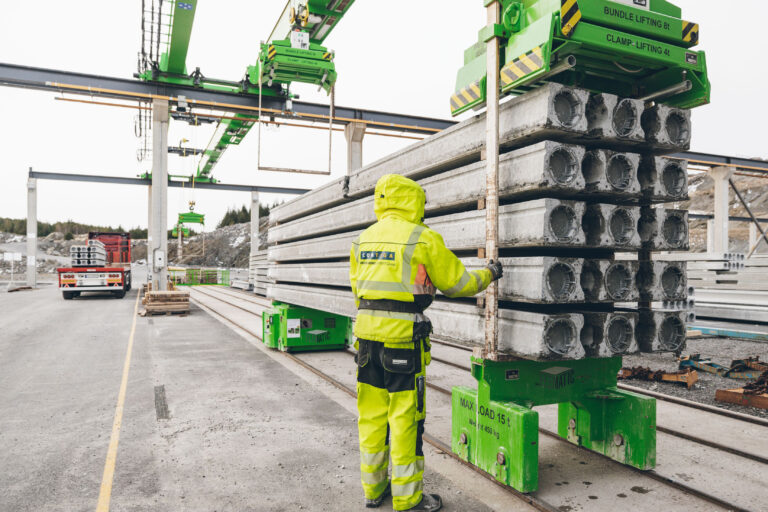
[[[468, 297], [499, 279], [502, 268], [468, 272], [424, 225], [424, 190], [397, 174], [376, 183], [378, 222], [352, 243], [349, 279], [357, 302], [357, 409], [365, 505], [391, 492], [395, 510], [435, 511], [440, 496], [422, 494], [426, 366], [432, 326], [424, 310], [435, 288]], [[392, 458], [392, 481], [388, 478]]]

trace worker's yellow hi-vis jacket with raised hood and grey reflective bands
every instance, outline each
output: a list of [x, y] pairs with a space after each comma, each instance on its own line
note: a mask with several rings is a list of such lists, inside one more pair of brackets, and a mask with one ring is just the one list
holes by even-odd
[[[418, 183], [387, 174], [376, 183], [374, 193], [378, 222], [352, 243], [349, 257], [349, 279], [358, 305], [355, 336], [411, 342], [414, 324], [418, 330], [428, 322], [421, 311], [431, 304], [435, 288], [448, 297], [469, 297], [485, 290], [492, 276], [487, 269], [468, 272], [445, 247], [443, 237], [424, 225], [426, 197]], [[382, 300], [387, 302], [377, 302]], [[387, 310], [382, 304], [394, 307]]]

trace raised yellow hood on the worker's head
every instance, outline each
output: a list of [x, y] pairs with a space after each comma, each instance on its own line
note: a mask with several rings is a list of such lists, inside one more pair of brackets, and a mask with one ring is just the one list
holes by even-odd
[[425, 202], [424, 189], [399, 174], [386, 174], [376, 182], [373, 211], [379, 220], [394, 216], [421, 224]]

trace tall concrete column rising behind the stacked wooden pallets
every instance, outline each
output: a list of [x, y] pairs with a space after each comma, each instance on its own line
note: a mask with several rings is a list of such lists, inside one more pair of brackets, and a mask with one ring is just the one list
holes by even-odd
[[147, 263], [155, 290], [168, 289], [168, 101], [152, 100], [152, 243]]

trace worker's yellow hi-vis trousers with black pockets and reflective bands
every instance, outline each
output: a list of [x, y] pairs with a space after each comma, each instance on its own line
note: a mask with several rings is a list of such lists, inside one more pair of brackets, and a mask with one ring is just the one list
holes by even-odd
[[381, 496], [392, 459], [392, 505], [406, 510], [422, 496], [422, 435], [429, 341], [358, 340], [357, 410], [360, 473], [365, 497]]

